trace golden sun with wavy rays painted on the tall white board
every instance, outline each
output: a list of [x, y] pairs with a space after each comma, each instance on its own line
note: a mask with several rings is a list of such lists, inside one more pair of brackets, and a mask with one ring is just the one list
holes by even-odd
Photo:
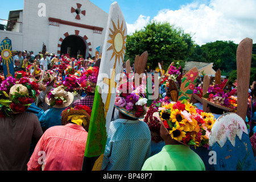
[[[120, 63], [120, 59], [122, 58], [122, 62], [123, 62], [123, 56], [125, 55], [125, 45], [126, 45], [126, 37], [125, 36], [125, 29], [123, 29], [123, 21], [121, 24], [121, 27], [119, 25], [119, 19], [118, 19], [118, 24], [117, 26], [115, 26], [115, 23], [113, 22], [112, 19], [112, 24], [113, 24], [113, 28], [114, 30], [112, 30], [111, 28], [109, 28], [109, 30], [112, 32], [112, 34], [109, 34], [110, 40], [108, 40], [108, 43], [112, 44], [107, 51], [110, 51], [113, 49], [113, 54], [110, 60], [112, 60], [112, 58], [115, 56], [115, 64], [117, 63], [117, 59], [118, 59], [118, 63]], [[114, 67], [115, 68], [115, 67]]]

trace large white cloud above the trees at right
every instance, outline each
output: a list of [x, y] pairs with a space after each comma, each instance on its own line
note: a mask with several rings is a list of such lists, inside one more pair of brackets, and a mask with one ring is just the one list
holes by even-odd
[[[194, 1], [179, 10], [161, 10], [152, 19], [181, 27], [199, 45], [216, 40], [231, 40], [238, 44], [246, 37], [256, 40], [255, 9], [255, 0], [211, 0], [208, 4]], [[127, 26], [128, 31], [140, 30], [139, 21], [143, 19], [147, 22], [141, 15], [137, 22]]]

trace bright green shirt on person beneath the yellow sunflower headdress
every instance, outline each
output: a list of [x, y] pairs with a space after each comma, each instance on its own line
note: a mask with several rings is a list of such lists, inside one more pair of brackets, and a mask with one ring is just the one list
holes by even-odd
[[168, 144], [144, 162], [142, 171], [205, 171], [203, 160], [184, 144]]

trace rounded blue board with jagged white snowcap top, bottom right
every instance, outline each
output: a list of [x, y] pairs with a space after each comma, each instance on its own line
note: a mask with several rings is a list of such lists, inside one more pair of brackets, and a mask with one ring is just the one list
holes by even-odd
[[210, 131], [209, 147], [216, 171], [256, 170], [247, 127], [236, 113], [225, 113], [217, 119]]

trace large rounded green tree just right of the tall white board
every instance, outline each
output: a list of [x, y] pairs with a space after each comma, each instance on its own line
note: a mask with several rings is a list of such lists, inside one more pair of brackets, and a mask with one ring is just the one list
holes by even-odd
[[172, 61], [190, 56], [193, 44], [191, 35], [185, 34], [181, 28], [152, 21], [143, 30], [127, 36], [125, 59], [133, 63], [137, 55], [147, 51], [148, 65], [155, 69], [158, 62], [164, 61], [163, 69], [166, 70]]

